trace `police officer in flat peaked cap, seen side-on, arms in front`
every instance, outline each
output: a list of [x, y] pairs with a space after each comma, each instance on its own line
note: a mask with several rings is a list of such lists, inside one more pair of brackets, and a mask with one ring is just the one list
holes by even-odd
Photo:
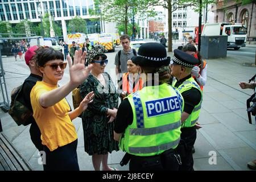
[[[174, 50], [171, 61], [171, 75], [176, 78], [172, 86], [177, 88], [184, 98], [184, 111], [181, 115], [181, 141], [176, 148], [181, 155], [180, 171], [193, 170], [192, 147], [196, 141], [196, 123], [199, 119], [203, 93], [191, 77], [191, 70], [199, 60], [187, 53]], [[185, 147], [184, 147], [185, 146]], [[185, 151], [184, 151], [185, 150]]]

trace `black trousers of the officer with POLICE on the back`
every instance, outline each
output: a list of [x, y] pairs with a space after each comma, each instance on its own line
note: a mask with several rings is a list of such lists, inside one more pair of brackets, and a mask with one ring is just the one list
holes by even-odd
[[172, 149], [154, 156], [131, 155], [129, 166], [130, 171], [177, 171], [178, 168], [179, 163]]

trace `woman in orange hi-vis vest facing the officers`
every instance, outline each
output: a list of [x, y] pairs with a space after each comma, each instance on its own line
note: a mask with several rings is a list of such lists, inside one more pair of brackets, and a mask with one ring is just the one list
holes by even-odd
[[118, 81], [118, 94], [123, 99], [130, 93], [142, 89], [142, 79], [139, 76], [139, 66], [131, 60], [127, 61], [127, 73], [123, 73], [122, 78]]

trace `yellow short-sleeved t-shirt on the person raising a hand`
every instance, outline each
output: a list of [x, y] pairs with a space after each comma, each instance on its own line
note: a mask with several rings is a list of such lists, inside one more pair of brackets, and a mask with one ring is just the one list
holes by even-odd
[[33, 117], [41, 131], [42, 144], [50, 151], [65, 146], [77, 139], [76, 128], [69, 118], [70, 107], [64, 98], [57, 104], [44, 108], [39, 104], [43, 93], [56, 89], [57, 85], [47, 84], [44, 81], [36, 82], [30, 93]]

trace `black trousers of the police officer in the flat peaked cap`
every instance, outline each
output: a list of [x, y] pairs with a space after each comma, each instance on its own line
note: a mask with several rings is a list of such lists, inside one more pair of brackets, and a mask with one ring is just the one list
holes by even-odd
[[[179, 171], [193, 171], [193, 155], [192, 155], [192, 147], [196, 142], [196, 128], [193, 127], [184, 127], [181, 128], [180, 139], [184, 140], [185, 147], [185, 155], [181, 155], [181, 166], [179, 166]], [[177, 146], [177, 150], [183, 150], [184, 146], [181, 145], [181, 142]]]

